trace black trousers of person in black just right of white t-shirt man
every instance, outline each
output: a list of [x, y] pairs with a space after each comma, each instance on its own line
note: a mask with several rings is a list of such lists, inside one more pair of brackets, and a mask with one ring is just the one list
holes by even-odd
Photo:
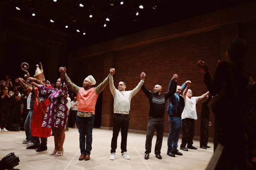
[[207, 144], [208, 144], [208, 128], [209, 128], [209, 118], [201, 117], [200, 147], [207, 146]]

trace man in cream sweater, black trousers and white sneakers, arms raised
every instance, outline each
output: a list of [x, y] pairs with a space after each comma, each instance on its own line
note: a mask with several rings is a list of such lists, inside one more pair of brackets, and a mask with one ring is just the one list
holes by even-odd
[[126, 83], [120, 81], [118, 83], [118, 89], [114, 86], [113, 74], [115, 73], [114, 68], [110, 68], [109, 86], [110, 91], [114, 97], [114, 114], [113, 114], [113, 137], [111, 141], [111, 155], [110, 160], [115, 160], [115, 152], [117, 149], [117, 137], [121, 129], [121, 157], [125, 159], [131, 159], [126, 153], [127, 134], [129, 128], [129, 111], [131, 105], [131, 98], [139, 91], [144, 83], [146, 74], [142, 72], [140, 74], [141, 81], [131, 91], [125, 91]]

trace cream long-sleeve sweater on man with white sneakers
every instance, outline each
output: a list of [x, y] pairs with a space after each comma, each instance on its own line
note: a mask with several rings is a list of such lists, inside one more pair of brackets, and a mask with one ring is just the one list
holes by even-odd
[[110, 87], [110, 91], [114, 97], [114, 113], [129, 114], [131, 98], [133, 96], [135, 96], [136, 93], [139, 92], [139, 89], [141, 88], [143, 83], [144, 83], [144, 80], [141, 79], [139, 84], [133, 90], [119, 91], [114, 86], [113, 76], [110, 75], [109, 87]]

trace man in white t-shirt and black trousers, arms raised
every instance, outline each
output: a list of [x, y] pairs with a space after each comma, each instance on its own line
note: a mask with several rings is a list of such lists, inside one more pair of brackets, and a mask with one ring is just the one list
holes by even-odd
[[[192, 91], [189, 87], [190, 83], [187, 83], [187, 87], [183, 92], [185, 107], [181, 114], [182, 141], [180, 147], [183, 151], [188, 151], [188, 149], [197, 149], [197, 147], [192, 146], [195, 133], [195, 120], [197, 120], [196, 104], [209, 94], [209, 92], [206, 92], [202, 96], [192, 97]], [[186, 145], [188, 149], [186, 148]]]

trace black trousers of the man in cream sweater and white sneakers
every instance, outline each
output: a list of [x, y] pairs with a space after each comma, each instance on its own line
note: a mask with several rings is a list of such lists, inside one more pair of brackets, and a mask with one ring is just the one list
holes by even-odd
[[121, 129], [121, 153], [126, 152], [127, 135], [129, 128], [129, 115], [122, 116], [120, 113], [113, 114], [113, 137], [111, 140], [111, 153], [116, 152], [117, 149], [117, 137]]

